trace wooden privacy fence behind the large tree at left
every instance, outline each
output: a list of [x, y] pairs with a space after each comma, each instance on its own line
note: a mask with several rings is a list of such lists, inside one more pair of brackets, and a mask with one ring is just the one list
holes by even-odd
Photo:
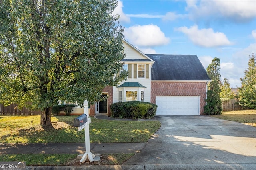
[[9, 106], [4, 106], [0, 104], [0, 115], [40, 115], [41, 111], [33, 111], [27, 109], [26, 107], [22, 107], [22, 109], [17, 108], [18, 104], [10, 104]]

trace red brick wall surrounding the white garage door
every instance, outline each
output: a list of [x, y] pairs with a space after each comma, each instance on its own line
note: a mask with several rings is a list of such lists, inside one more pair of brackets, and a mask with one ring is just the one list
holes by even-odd
[[151, 82], [151, 103], [156, 96], [200, 96], [200, 115], [206, 105], [206, 82]]

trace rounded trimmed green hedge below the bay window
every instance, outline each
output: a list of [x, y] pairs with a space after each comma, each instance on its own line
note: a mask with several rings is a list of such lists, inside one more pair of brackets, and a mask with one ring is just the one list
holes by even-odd
[[111, 117], [120, 119], [151, 119], [156, 115], [157, 105], [149, 102], [129, 101], [113, 103]]

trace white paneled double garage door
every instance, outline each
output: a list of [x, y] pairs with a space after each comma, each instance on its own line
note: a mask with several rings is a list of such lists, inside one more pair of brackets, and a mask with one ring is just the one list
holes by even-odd
[[199, 96], [156, 96], [157, 115], [199, 115]]

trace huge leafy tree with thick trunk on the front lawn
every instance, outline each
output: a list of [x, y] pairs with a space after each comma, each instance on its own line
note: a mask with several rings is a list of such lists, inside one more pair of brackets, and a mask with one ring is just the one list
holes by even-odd
[[[0, 102], [31, 103], [51, 127], [58, 100], [93, 102], [125, 57], [116, 0], [0, 1]], [[124, 72], [125, 73], [125, 72]], [[28, 107], [28, 106], [27, 106]]]

